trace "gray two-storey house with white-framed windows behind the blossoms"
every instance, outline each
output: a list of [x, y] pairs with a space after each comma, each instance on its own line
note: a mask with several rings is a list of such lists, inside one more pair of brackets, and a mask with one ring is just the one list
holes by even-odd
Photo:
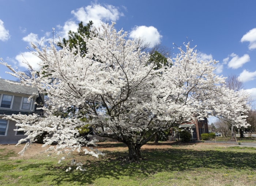
[[[29, 100], [31, 95], [35, 96]], [[15, 121], [3, 119], [3, 117], [19, 113], [29, 115], [39, 112], [35, 102], [42, 102], [37, 88], [0, 78], [0, 144], [17, 143], [25, 137], [23, 131], [14, 131], [17, 129]]]

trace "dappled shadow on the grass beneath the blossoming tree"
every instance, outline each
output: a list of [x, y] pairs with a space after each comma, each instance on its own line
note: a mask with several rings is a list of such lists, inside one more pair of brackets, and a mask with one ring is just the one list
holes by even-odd
[[177, 148], [143, 149], [142, 156], [145, 159], [132, 163], [122, 161], [122, 157], [127, 155], [127, 151], [107, 151], [106, 153], [105, 157], [98, 159], [84, 156], [83, 168], [86, 168], [84, 172], [76, 171], [76, 167], [72, 167], [71, 171], [65, 172], [64, 170], [69, 167], [67, 164], [61, 167], [58, 167], [57, 164], [48, 164], [46, 166], [46, 169], [48, 169], [47, 173], [37, 175], [38, 179], [57, 174], [58, 176], [53, 179], [56, 185], [72, 182], [83, 185], [92, 184], [99, 178], [120, 179], [123, 176], [127, 176], [143, 179], [157, 172], [195, 170], [200, 167], [210, 169], [233, 168], [237, 170], [246, 168], [253, 171], [256, 169], [255, 153], [234, 152], [233, 148], [226, 151], [197, 151]]

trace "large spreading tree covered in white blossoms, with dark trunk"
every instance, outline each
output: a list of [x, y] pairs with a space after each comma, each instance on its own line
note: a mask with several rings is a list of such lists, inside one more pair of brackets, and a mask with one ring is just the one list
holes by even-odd
[[167, 59], [172, 66], [159, 67], [156, 61], [148, 63], [150, 55], [141, 52], [127, 32], [117, 31], [114, 23], [92, 28], [91, 33], [84, 37], [86, 55], [80, 55], [79, 47], [33, 45], [41, 59], [39, 71], [32, 71], [35, 78], [1, 62], [22, 84], [36, 86], [47, 98], [43, 117], [12, 116], [27, 132], [19, 143], [34, 142], [48, 132], [44, 146], [57, 142], [56, 150], [80, 150], [81, 144], [94, 143], [79, 136], [79, 128], [89, 124], [98, 135], [125, 143], [127, 160], [133, 161], [142, 158], [140, 148], [155, 133], [193, 116], [215, 115], [247, 125], [243, 115], [247, 95], [221, 86], [225, 79], [213, 73], [215, 61], [197, 62], [196, 50], [189, 44]]

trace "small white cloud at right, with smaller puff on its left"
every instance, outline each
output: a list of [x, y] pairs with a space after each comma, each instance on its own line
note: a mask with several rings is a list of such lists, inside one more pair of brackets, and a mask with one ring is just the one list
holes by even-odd
[[[248, 54], [244, 54], [242, 57], [239, 57], [237, 54], [230, 54], [231, 60], [228, 62], [227, 66], [232, 69], [238, 69], [242, 67], [245, 63], [250, 61], [250, 57]], [[223, 59], [224, 63], [227, 63], [229, 58]]]

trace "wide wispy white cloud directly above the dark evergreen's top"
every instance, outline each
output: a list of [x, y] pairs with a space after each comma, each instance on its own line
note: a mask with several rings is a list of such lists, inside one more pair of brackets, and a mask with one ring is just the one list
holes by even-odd
[[105, 7], [103, 7], [100, 4], [81, 7], [77, 9], [77, 11], [72, 10], [71, 13], [75, 15], [79, 22], [88, 23], [89, 21], [93, 21], [95, 26], [98, 26], [101, 21], [116, 21], [120, 16], [124, 15], [113, 5], [105, 5]]

